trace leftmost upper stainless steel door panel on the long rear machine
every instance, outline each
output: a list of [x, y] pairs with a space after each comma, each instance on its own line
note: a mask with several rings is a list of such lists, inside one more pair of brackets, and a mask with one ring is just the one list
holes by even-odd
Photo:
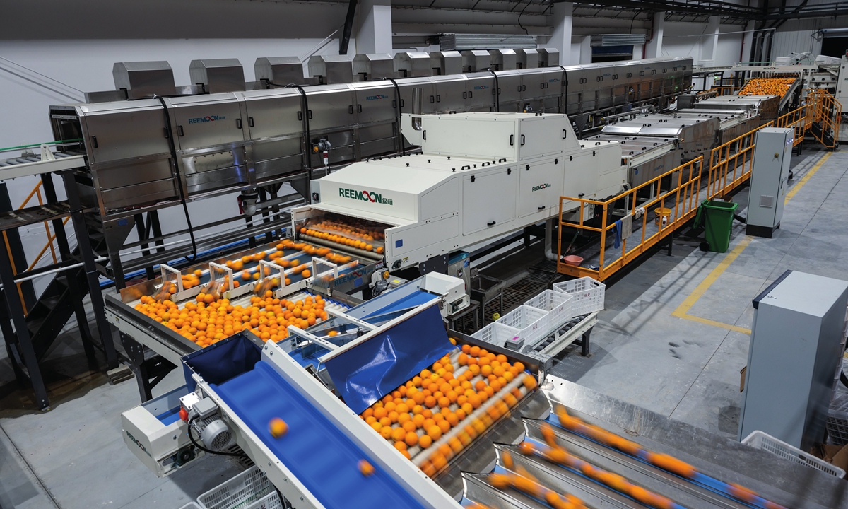
[[[138, 103], [149, 101], [138, 101]], [[138, 108], [90, 111], [84, 114], [82, 126], [91, 162], [105, 162], [168, 154], [165, 137], [165, 113], [161, 104]]]

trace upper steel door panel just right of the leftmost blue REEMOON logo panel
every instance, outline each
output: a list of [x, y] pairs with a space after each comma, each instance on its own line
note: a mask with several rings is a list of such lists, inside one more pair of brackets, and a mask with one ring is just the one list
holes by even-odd
[[295, 89], [243, 93], [250, 139], [279, 137], [304, 131], [300, 93]]

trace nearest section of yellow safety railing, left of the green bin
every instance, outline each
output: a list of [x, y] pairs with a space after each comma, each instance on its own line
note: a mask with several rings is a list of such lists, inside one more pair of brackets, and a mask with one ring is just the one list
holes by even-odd
[[[656, 176], [612, 199], [601, 201], [561, 197], [559, 247], [556, 257], [558, 260], [557, 271], [574, 277], [589, 276], [603, 281], [627, 265], [628, 262], [642, 255], [647, 249], [655, 246], [663, 238], [666, 238], [684, 222], [692, 219], [700, 204], [700, 175], [703, 162], [704, 156], [701, 155], [698, 159], [693, 159], [685, 165], [680, 165], [661, 176]], [[666, 188], [663, 189], [663, 187]], [[621, 238], [620, 247], [616, 247], [616, 241], [611, 241], [611, 238], [620, 237], [621, 234], [619, 232], [616, 235], [616, 232], [613, 231], [616, 223], [609, 221], [608, 218], [613, 204], [620, 201], [626, 204], [626, 214], [635, 217], [637, 210], [641, 211], [642, 214], [639, 219], [633, 219], [633, 235], [628, 238]], [[576, 212], [573, 212], [575, 202], [579, 204], [579, 207]], [[600, 207], [600, 227], [585, 224], [584, 218], [587, 215], [587, 206]], [[665, 209], [663, 211], [667, 212], [667, 215], [658, 214], [657, 216], [660, 218], [658, 221], [649, 222], [647, 211], [653, 210], [654, 207], [657, 210]], [[572, 212], [564, 213], [563, 210]], [[577, 223], [566, 221], [565, 215], [573, 214], [577, 214]], [[637, 228], [639, 221], [641, 221], [641, 227]], [[654, 224], [655, 222], [656, 224]], [[600, 233], [600, 260], [597, 269], [570, 266], [563, 262], [562, 232], [564, 227], [576, 227], [579, 230]], [[612, 243], [612, 246], [608, 246], [608, 243]], [[610, 258], [610, 260], [607, 260], [607, 258]]]

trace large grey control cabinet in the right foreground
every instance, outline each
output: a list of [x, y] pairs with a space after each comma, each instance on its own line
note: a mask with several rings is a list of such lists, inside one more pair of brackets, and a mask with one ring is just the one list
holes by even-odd
[[809, 451], [842, 362], [848, 282], [786, 271], [753, 304], [739, 440], [760, 430]]

